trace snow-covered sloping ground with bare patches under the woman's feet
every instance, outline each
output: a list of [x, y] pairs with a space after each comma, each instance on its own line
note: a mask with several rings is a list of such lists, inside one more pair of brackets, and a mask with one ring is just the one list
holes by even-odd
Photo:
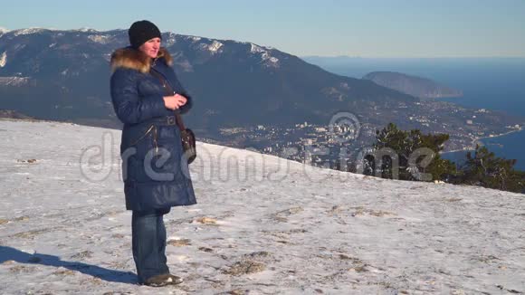
[[[391, 181], [198, 143], [198, 205], [138, 286], [117, 130], [0, 120], [1, 294], [525, 292], [523, 195]], [[197, 135], [198, 136], [198, 135]]]

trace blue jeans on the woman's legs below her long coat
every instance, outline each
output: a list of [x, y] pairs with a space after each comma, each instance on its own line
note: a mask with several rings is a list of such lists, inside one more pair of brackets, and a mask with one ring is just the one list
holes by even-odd
[[138, 283], [158, 274], [169, 273], [166, 258], [166, 227], [162, 210], [133, 211], [131, 234], [133, 259], [137, 267]]

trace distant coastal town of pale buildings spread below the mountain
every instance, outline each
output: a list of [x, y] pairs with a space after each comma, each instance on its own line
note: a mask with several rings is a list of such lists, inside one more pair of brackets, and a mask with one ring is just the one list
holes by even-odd
[[[503, 128], [492, 124], [492, 119], [501, 114], [492, 115], [492, 110], [488, 109], [463, 109], [458, 108], [457, 105], [432, 103], [432, 101], [416, 104], [426, 111], [408, 111], [402, 104], [398, 109], [392, 110], [397, 114], [402, 111], [408, 113], [406, 117], [405, 114], [401, 117], [406, 119], [402, 120], [399, 128], [418, 128], [424, 133], [448, 134], [450, 139], [445, 143], [444, 152], [472, 149], [479, 138], [497, 137], [522, 128], [520, 124], [507, 125]], [[439, 122], [437, 120], [440, 118], [439, 113], [443, 112], [453, 114], [453, 120]], [[377, 111], [374, 115], [382, 114]], [[341, 165], [346, 165], [346, 161], [355, 162], [369, 152], [376, 141], [377, 129], [384, 127], [377, 128], [366, 122], [330, 126], [305, 121], [290, 127], [257, 125], [245, 128], [220, 128], [220, 140], [203, 141], [229, 147], [249, 148], [317, 167], [339, 168]]]

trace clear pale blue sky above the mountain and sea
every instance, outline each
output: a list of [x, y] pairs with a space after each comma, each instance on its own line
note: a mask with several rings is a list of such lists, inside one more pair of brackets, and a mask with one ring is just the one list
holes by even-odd
[[28, 0], [0, 27], [127, 29], [249, 41], [295, 55], [525, 57], [525, 0]]

